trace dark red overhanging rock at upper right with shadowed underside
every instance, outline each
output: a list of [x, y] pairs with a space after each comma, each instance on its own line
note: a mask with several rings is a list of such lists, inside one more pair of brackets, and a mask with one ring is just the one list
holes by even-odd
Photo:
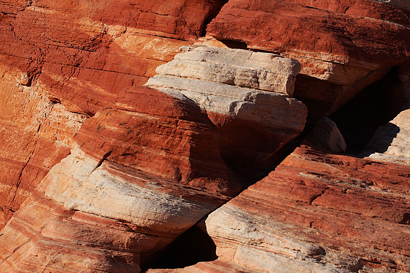
[[318, 112], [311, 114], [317, 121], [408, 57], [408, 6], [393, 5], [230, 0], [207, 35], [297, 59], [302, 72], [295, 96]]

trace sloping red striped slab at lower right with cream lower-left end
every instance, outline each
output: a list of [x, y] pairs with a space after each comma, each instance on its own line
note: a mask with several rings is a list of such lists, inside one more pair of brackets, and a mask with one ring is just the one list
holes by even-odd
[[409, 172], [301, 146], [206, 218], [218, 260], [148, 272], [407, 272]]

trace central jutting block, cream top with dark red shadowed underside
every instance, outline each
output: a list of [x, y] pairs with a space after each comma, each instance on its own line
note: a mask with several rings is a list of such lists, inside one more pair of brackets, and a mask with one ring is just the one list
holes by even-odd
[[[221, 129], [222, 158], [249, 176], [298, 136], [306, 108], [291, 98], [300, 64], [276, 54], [182, 47], [146, 84], [195, 101]], [[269, 91], [269, 92], [267, 92]]]

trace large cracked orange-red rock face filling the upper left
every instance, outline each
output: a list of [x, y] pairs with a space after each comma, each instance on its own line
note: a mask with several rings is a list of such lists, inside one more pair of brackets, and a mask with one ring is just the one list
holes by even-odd
[[192, 44], [219, 5], [0, 3], [0, 228], [70, 153], [81, 123]]

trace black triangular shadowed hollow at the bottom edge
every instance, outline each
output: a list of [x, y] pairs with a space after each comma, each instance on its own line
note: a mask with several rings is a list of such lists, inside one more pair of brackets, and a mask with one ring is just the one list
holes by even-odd
[[211, 237], [194, 225], [141, 264], [141, 270], [182, 268], [217, 258], [216, 245]]

